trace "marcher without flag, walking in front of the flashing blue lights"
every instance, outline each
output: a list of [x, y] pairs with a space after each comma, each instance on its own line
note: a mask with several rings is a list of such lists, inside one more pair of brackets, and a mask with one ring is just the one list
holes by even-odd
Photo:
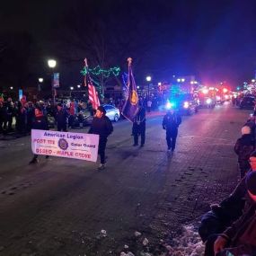
[[176, 146], [176, 138], [178, 136], [178, 128], [181, 125], [181, 116], [173, 109], [168, 110], [163, 117], [163, 129], [166, 130], [166, 142], [168, 151], [174, 151]]

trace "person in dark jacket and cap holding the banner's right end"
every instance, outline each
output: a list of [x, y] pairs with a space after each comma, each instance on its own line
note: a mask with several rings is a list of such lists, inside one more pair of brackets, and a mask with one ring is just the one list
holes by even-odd
[[90, 134], [98, 134], [100, 136], [98, 154], [101, 156], [101, 163], [98, 170], [105, 169], [105, 149], [108, 142], [108, 137], [113, 132], [113, 126], [108, 117], [106, 110], [100, 106], [93, 117], [93, 122], [89, 130]]

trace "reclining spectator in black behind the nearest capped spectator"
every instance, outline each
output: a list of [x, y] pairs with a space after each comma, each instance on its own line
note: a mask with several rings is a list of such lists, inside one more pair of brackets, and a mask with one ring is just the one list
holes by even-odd
[[[255, 172], [256, 150], [250, 155], [249, 162], [251, 165], [249, 172]], [[219, 234], [227, 226], [232, 225], [251, 205], [252, 199], [247, 193], [245, 177], [243, 177], [229, 197], [220, 204], [212, 204], [211, 210], [201, 217], [199, 235], [203, 243], [207, 243], [213, 234]]]

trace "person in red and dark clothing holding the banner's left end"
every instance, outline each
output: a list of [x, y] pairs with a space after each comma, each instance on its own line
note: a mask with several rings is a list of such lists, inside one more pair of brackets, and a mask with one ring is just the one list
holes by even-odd
[[[36, 103], [36, 107], [34, 110], [34, 120], [32, 122], [33, 129], [42, 129], [42, 130], [49, 130], [48, 126], [48, 119], [47, 116], [44, 114], [40, 102]], [[30, 163], [38, 163], [38, 154], [34, 154]], [[49, 158], [49, 155], [46, 155], [45, 158]]]

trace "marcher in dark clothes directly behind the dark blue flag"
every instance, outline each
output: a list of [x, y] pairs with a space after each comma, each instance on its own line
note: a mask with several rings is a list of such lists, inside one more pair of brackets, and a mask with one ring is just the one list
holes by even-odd
[[132, 135], [134, 138], [133, 146], [138, 145], [138, 137], [141, 137], [140, 146], [145, 144], [145, 133], [146, 133], [146, 109], [139, 102], [139, 109], [137, 115], [133, 120]]

